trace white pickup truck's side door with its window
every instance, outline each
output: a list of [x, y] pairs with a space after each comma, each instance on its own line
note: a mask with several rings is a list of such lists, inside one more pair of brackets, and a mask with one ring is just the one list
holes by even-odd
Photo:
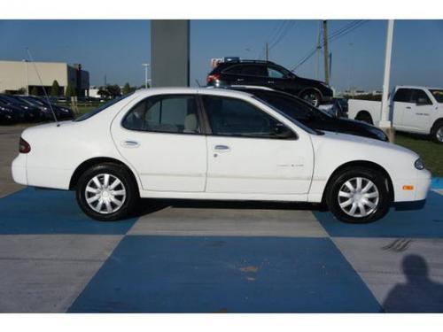
[[431, 98], [423, 89], [411, 89], [411, 103], [403, 114], [403, 127], [429, 133], [431, 127]]

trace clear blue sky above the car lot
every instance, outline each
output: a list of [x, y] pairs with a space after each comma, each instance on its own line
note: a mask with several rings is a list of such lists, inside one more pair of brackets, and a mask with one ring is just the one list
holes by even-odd
[[[330, 20], [332, 34], [350, 20]], [[291, 24], [290, 24], [291, 23]], [[210, 59], [224, 56], [263, 57], [265, 42], [276, 40], [282, 20], [191, 20], [190, 80], [205, 83]], [[291, 68], [315, 46], [319, 20], [288, 21], [286, 34], [270, 51], [270, 59]], [[369, 20], [331, 42], [331, 84], [381, 89], [385, 58], [385, 20]], [[396, 20], [391, 84], [443, 86], [443, 20]], [[150, 62], [149, 20], [0, 20], [0, 59], [82, 63], [90, 83], [141, 85], [144, 62]], [[316, 57], [296, 71], [315, 78]], [[323, 80], [323, 58], [320, 58]], [[1, 73], [0, 73], [1, 76]]]

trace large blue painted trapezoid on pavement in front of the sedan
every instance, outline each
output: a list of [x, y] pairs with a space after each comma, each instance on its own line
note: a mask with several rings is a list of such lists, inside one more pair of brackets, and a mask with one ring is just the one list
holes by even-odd
[[127, 235], [73, 313], [378, 313], [327, 238]]

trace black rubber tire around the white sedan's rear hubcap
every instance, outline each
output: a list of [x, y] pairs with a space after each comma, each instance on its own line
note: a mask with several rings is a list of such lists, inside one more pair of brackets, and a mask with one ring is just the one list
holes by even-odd
[[[120, 206], [108, 200], [107, 203], [109, 203], [113, 209], [116, 209], [113, 212], [103, 211], [105, 210], [106, 206], [102, 208], [102, 205], [100, 205], [99, 208], [102, 212], [97, 212], [87, 202], [87, 195], [97, 195], [97, 194], [87, 193], [86, 192], [87, 186], [89, 185], [89, 183], [92, 184], [93, 178], [97, 176], [97, 178], [102, 179], [102, 175], [104, 178], [105, 174], [110, 175], [109, 177], [112, 179], [110, 181], [115, 181], [114, 179], [118, 179], [121, 182], [121, 184], [119, 184], [118, 187], [116, 187], [116, 189], [120, 189], [120, 191], [123, 191], [122, 189], [124, 189], [125, 192], [124, 197], [122, 195], [115, 196], [116, 199], [121, 201]], [[111, 187], [112, 185], [113, 182], [110, 182], [109, 187]], [[108, 189], [107, 188], [108, 186], [105, 187], [106, 189]], [[105, 198], [107, 199], [107, 197]], [[87, 171], [85, 171], [82, 174], [76, 186], [76, 198], [78, 204], [82, 208], [82, 211], [85, 212], [89, 217], [100, 221], [113, 221], [128, 217], [130, 213], [134, 212], [136, 204], [139, 200], [139, 194], [138, 194], [136, 181], [134, 180], [132, 174], [129, 173], [127, 168], [113, 163], [103, 163], [90, 167]]]

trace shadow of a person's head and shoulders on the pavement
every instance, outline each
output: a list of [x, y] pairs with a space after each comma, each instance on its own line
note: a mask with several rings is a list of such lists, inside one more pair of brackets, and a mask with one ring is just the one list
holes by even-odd
[[429, 278], [426, 260], [408, 255], [402, 261], [407, 282], [390, 290], [383, 307], [386, 313], [443, 313], [443, 284]]

